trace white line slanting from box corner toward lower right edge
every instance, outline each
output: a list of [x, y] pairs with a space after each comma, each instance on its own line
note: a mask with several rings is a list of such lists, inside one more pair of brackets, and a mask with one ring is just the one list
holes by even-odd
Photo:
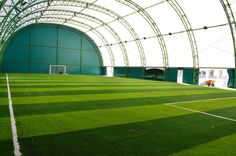
[[164, 104], [164, 105], [174, 107], [174, 108], [183, 109], [183, 110], [187, 110], [187, 111], [194, 112], [194, 113], [204, 114], [204, 115], [207, 115], [207, 116], [212, 116], [212, 117], [215, 117], [215, 118], [220, 118], [220, 119], [236, 122], [236, 119], [227, 118], [227, 117], [223, 117], [223, 116], [219, 116], [219, 115], [214, 115], [214, 114], [207, 113], [207, 112], [202, 112], [202, 111], [198, 111], [198, 110], [194, 110], [194, 109], [190, 109], [190, 108], [176, 106], [176, 105], [173, 105], [173, 104]]

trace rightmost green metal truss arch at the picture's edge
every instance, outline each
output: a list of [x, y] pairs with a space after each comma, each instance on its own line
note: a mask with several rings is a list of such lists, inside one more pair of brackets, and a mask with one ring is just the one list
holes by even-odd
[[233, 39], [233, 48], [234, 48], [234, 64], [235, 64], [235, 79], [234, 79], [234, 88], [236, 88], [236, 21], [234, 17], [234, 12], [230, 6], [230, 3], [228, 0], [220, 0], [221, 5], [224, 8], [225, 14], [228, 19], [229, 27], [232, 34]]

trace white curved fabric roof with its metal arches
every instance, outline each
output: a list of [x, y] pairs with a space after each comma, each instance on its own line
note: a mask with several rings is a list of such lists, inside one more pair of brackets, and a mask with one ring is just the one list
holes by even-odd
[[235, 68], [236, 0], [3, 0], [0, 40], [33, 23], [79, 29], [105, 66]]

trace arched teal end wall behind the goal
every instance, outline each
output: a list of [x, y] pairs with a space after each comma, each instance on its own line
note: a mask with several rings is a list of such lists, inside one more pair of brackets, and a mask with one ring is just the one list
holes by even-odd
[[50, 64], [66, 65], [69, 74], [102, 73], [97, 46], [72, 28], [30, 25], [17, 32], [4, 48], [3, 72], [48, 73]]

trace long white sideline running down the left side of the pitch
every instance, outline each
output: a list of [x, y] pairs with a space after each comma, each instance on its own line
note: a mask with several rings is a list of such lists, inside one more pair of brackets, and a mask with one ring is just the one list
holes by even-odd
[[9, 111], [10, 111], [10, 117], [11, 117], [11, 129], [12, 129], [12, 137], [13, 137], [14, 154], [15, 156], [21, 156], [20, 144], [18, 141], [17, 129], [16, 129], [16, 120], [15, 120], [13, 106], [12, 106], [8, 74], [6, 74], [6, 80], [7, 80], [7, 92], [8, 92], [8, 101], [9, 101]]

